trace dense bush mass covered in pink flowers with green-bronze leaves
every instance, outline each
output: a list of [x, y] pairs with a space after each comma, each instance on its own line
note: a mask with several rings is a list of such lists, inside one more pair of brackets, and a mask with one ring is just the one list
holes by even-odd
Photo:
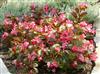
[[[96, 60], [93, 25], [85, 21], [74, 23], [62, 12], [45, 5], [31, 15], [6, 17], [2, 39], [10, 39], [13, 64], [32, 71], [32, 63], [45, 62], [53, 71], [57, 68], [78, 68]], [[83, 6], [81, 7], [83, 8]], [[37, 14], [37, 15], [36, 15]]]

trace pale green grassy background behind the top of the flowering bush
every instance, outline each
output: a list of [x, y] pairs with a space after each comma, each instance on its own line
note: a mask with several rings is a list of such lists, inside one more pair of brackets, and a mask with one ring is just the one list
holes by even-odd
[[[95, 15], [94, 13], [95, 12], [97, 13], [98, 10], [96, 10], [96, 8], [100, 7], [100, 5], [96, 3], [97, 0], [48, 0], [48, 1], [47, 0], [13, 0], [13, 1], [8, 0], [8, 2], [4, 3], [2, 7], [0, 8], [0, 22], [2, 23], [2, 21], [4, 20], [4, 14], [6, 13], [7, 14], [11, 13], [12, 15], [15, 15], [15, 16], [20, 16], [24, 13], [28, 13], [29, 4], [32, 2], [35, 2], [39, 5], [49, 3], [52, 6], [59, 9], [60, 11], [66, 12], [67, 18], [69, 19], [72, 19], [70, 12], [77, 4], [79, 4], [80, 2], [87, 2], [91, 4], [88, 10], [88, 16], [85, 17], [86, 20], [89, 22], [93, 22], [94, 19], [98, 16], [98, 14]], [[92, 10], [95, 10], [95, 12]]]

